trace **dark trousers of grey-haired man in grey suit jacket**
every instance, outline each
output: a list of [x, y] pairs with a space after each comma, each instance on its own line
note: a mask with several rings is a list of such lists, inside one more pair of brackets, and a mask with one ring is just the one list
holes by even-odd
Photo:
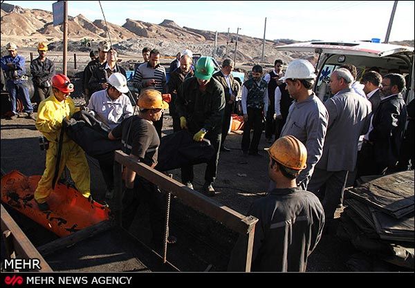
[[[335, 209], [341, 203], [349, 171], [326, 171], [315, 168], [307, 190], [317, 195], [327, 221], [334, 219]], [[323, 187], [325, 185], [324, 191]]]

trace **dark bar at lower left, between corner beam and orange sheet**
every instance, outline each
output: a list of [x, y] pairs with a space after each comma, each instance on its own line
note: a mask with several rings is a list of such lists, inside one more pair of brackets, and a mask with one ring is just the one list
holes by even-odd
[[52, 253], [55, 253], [56, 251], [60, 249], [70, 247], [76, 244], [77, 242], [81, 242], [82, 240], [85, 240], [86, 238], [91, 238], [98, 233], [107, 231], [111, 229], [113, 226], [114, 224], [111, 220], [102, 221], [91, 227], [87, 227], [85, 229], [77, 231], [66, 237], [53, 240], [52, 242], [49, 242], [48, 244], [44, 244], [41, 247], [38, 247], [37, 250], [43, 256], [48, 256]]

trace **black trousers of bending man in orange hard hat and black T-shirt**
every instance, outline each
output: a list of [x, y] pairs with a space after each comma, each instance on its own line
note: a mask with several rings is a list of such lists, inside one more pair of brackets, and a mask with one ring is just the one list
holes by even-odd
[[125, 189], [122, 198], [122, 227], [129, 229], [141, 202], [149, 204], [149, 219], [153, 232], [152, 242], [163, 242], [165, 233], [165, 197], [158, 187], [136, 175], [133, 189]]

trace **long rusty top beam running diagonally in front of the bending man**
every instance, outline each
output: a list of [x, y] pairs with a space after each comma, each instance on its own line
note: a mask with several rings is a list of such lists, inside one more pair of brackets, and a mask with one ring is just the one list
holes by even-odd
[[122, 151], [116, 151], [115, 160], [124, 166], [128, 166], [140, 176], [149, 180], [149, 182], [158, 185], [160, 189], [171, 192], [190, 207], [205, 213], [238, 233], [249, 233], [258, 221], [255, 217], [246, 217], [245, 215], [212, 200], [208, 196], [196, 192], [184, 184], [167, 177], [163, 173], [151, 169], [145, 164], [136, 162], [136, 160], [133, 160], [132, 157]]

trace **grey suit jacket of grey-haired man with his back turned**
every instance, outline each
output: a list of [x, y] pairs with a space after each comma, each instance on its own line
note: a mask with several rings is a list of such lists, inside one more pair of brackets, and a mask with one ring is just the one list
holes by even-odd
[[369, 129], [371, 104], [348, 88], [327, 99], [324, 105], [329, 111], [329, 126], [316, 167], [326, 171], [353, 171], [359, 136]]

